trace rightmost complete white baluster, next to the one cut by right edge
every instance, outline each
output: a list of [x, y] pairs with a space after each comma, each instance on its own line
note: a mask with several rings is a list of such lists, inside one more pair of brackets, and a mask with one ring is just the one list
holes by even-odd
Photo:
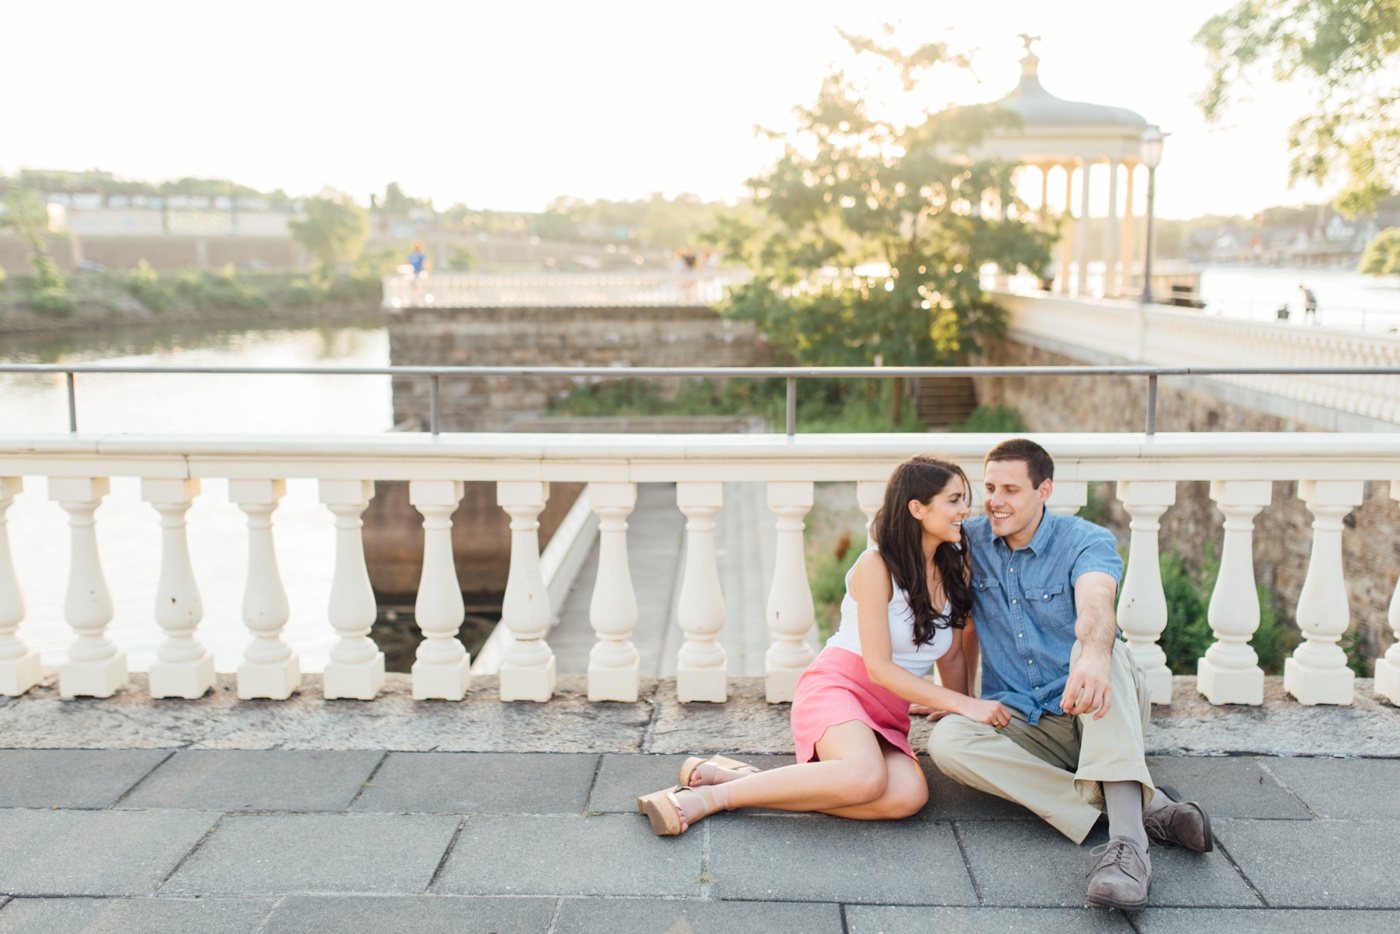
[[1303, 480], [1298, 496], [1313, 514], [1313, 548], [1298, 595], [1303, 644], [1284, 661], [1284, 690], [1303, 704], [1350, 704], [1355, 675], [1337, 641], [1351, 625], [1341, 570], [1341, 520], [1361, 504], [1357, 480]]

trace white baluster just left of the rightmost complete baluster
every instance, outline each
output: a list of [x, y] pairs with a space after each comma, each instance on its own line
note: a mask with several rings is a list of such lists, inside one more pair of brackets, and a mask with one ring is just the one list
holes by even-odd
[[1207, 611], [1215, 641], [1196, 662], [1196, 689], [1212, 704], [1264, 703], [1264, 671], [1249, 641], [1259, 629], [1254, 517], [1273, 497], [1268, 480], [1211, 482], [1211, 499], [1225, 515], [1225, 543]]

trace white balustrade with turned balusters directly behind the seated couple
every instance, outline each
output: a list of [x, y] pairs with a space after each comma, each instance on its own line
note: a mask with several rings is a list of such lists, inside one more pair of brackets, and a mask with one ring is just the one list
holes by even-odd
[[[791, 700], [811, 662], [813, 626], [804, 559], [804, 520], [813, 483], [855, 483], [860, 510], [872, 518], [885, 480], [903, 458], [930, 447], [959, 461], [974, 485], [981, 455], [1000, 437], [945, 435], [577, 435], [391, 434], [323, 440], [197, 437], [0, 437], [0, 693], [20, 695], [41, 676], [36, 653], [24, 640], [25, 604], [15, 574], [6, 511], [17, 496], [48, 496], [67, 514], [71, 541], [63, 618], [73, 632], [59, 667], [63, 696], [111, 696], [127, 681], [126, 653], [108, 633], [112, 619], [97, 515], [109, 478], [139, 478], [151, 522], [161, 529], [160, 578], [153, 594], [162, 639], [150, 669], [158, 697], [202, 696], [213, 683], [213, 660], [200, 640], [203, 616], [186, 541], [186, 513], [209, 479], [228, 482], [228, 496], [246, 515], [246, 580], [241, 618], [246, 650], [238, 667], [241, 697], [286, 699], [298, 689], [297, 654], [284, 639], [287, 598], [274, 548], [273, 518], [288, 479], [311, 478], [335, 518], [333, 577], [325, 625], [335, 634], [325, 667], [326, 697], [372, 700], [384, 682], [384, 657], [370, 637], [374, 595], [365, 573], [360, 517], [374, 480], [407, 480], [423, 515], [424, 557], [416, 616], [424, 641], [413, 665], [413, 696], [462, 700], [469, 658], [456, 639], [462, 594], [452, 560], [452, 514], [463, 480], [494, 482], [497, 501], [511, 517], [511, 560], [503, 581], [501, 626], [510, 634], [500, 664], [504, 700], [546, 702], [556, 665], [547, 634], [552, 608], [540, 569], [538, 517], [552, 482], [589, 483], [589, 507], [599, 518], [599, 564], [591, 623], [596, 634], [588, 664], [591, 700], [636, 700], [638, 653], [631, 636], [638, 615], [665, 618], [662, 606], [638, 606], [627, 564], [627, 520], [637, 483], [675, 483], [676, 508], [687, 518], [687, 562], [679, 599], [683, 646], [676, 690], [683, 702], [728, 696], [724, 647], [725, 602], [715, 566], [714, 517], [724, 508], [727, 480], [767, 485], [777, 531], [774, 574], [764, 606], [770, 633], [767, 697]], [[1254, 517], [1270, 508], [1275, 480], [1296, 482], [1313, 515], [1310, 557], [1298, 623], [1302, 644], [1287, 661], [1284, 685], [1305, 704], [1347, 704], [1354, 678], [1338, 640], [1350, 627], [1343, 573], [1344, 517], [1362, 500], [1364, 485], [1385, 480], [1400, 501], [1400, 434], [1063, 434], [1043, 435], [1057, 459], [1050, 508], [1075, 513], [1091, 482], [1109, 480], [1131, 517], [1128, 566], [1119, 622], [1151, 683], [1152, 699], [1169, 703], [1170, 672], [1161, 648], [1168, 626], [1158, 566], [1159, 518], [1172, 508], [1177, 485], [1208, 480], [1225, 515], [1221, 567], [1210, 601], [1215, 641], [1198, 662], [1198, 690], [1217, 704], [1259, 704], [1263, 671], [1249, 641], [1260, 622], [1254, 581]], [[27, 479], [32, 483], [27, 487]], [[1400, 506], [1397, 506], [1400, 508]], [[1203, 545], [1204, 546], [1204, 545]], [[1400, 599], [1389, 627], [1400, 639]], [[1376, 660], [1376, 690], [1400, 703], [1400, 643]]]

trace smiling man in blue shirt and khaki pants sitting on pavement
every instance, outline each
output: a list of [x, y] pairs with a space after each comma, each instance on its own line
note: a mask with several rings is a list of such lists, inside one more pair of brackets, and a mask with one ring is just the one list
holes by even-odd
[[1152, 784], [1145, 679], [1113, 611], [1123, 560], [1107, 529], [1046, 510], [1053, 475], [1035, 441], [987, 454], [987, 517], [966, 521], [963, 541], [981, 696], [1001, 702], [1011, 723], [944, 717], [928, 749], [953, 780], [1025, 805], [1075, 843], [1107, 812], [1110, 839], [1086, 899], [1135, 909], [1152, 882], [1148, 840], [1208, 853], [1211, 828], [1198, 804]]

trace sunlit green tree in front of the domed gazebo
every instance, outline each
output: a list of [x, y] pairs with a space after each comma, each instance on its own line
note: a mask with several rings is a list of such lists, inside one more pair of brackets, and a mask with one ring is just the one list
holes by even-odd
[[[903, 55], [846, 38], [897, 67], [904, 92], [935, 66], [965, 64], [941, 43]], [[711, 235], [755, 273], [731, 290], [727, 314], [815, 365], [952, 364], [998, 333], [1004, 312], [981, 291], [981, 266], [1039, 270], [1051, 242], [1025, 220], [1014, 167], [966, 155], [1014, 115], [949, 108], [906, 126], [874, 116], [843, 73], [797, 113], [798, 133], [777, 137], [781, 158], [748, 182], [752, 210], [731, 211]], [[865, 263], [888, 276], [857, 274]], [[900, 398], [896, 386], [896, 423]]]

